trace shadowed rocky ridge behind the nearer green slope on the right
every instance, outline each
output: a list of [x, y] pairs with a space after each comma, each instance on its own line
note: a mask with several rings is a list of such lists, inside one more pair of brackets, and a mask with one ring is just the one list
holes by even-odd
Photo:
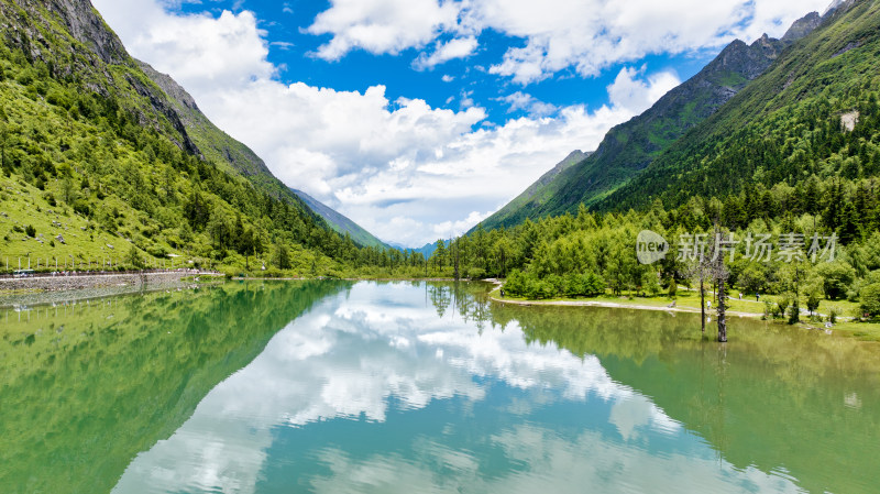
[[484, 227], [509, 227], [525, 218], [574, 213], [581, 204], [601, 201], [760, 76], [787, 46], [817, 25], [817, 18], [811, 13], [796, 21], [782, 40], [763, 35], [751, 45], [734, 41], [647, 111], [608, 131], [594, 153], [556, 174], [550, 183], [534, 185], [541, 189], [540, 195], [518, 197], [486, 219]]

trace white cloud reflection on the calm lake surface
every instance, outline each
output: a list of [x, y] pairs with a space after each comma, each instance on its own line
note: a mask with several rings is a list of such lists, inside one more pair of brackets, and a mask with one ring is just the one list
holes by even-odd
[[[330, 473], [297, 479], [316, 492], [557, 492], [605, 486], [656, 491], [691, 485], [708, 491], [795, 491], [788, 480], [757, 469], [736, 471], [701, 441], [658, 454], [652, 441], [689, 432], [650, 399], [614, 382], [593, 355], [575, 356], [554, 344], [528, 344], [515, 323], [481, 330], [454, 311], [438, 317], [421, 288], [409, 284], [355, 285], [324, 300], [279, 331], [250, 365], [212, 389], [169, 439], [135, 458], [114, 492], [257, 492], [273, 461], [278, 428], [309, 428], [329, 420], [384, 422], [389, 407], [426, 409], [458, 399], [479, 404], [510, 388], [498, 414], [516, 425], [486, 431], [473, 450], [443, 443], [448, 435], [416, 435], [414, 455], [375, 444], [355, 457], [328, 444], [312, 451]], [[598, 400], [609, 408], [607, 428], [560, 435], [540, 424], [551, 403]], [[593, 402], [590, 402], [591, 404]], [[605, 420], [605, 419], [603, 419]], [[449, 435], [455, 430], [451, 426]], [[490, 444], [520, 468], [485, 474]], [[300, 453], [305, 453], [301, 451]], [[686, 469], [682, 471], [682, 469]], [[638, 472], [638, 475], [634, 473]], [[648, 482], [648, 483], [646, 483]], [[678, 482], [678, 484], [676, 484]]]

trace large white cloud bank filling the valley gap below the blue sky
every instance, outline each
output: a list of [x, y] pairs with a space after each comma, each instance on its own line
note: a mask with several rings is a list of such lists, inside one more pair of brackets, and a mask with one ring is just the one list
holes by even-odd
[[279, 83], [246, 11], [212, 18], [169, 13], [155, 0], [95, 3], [134, 56], [177, 79], [278, 178], [377, 237], [413, 246], [468, 230], [676, 83], [672, 74], [625, 69], [608, 88], [608, 106], [550, 111], [521, 94], [510, 105], [527, 106], [528, 116], [483, 125], [486, 112], [470, 91], [454, 111], [392, 100], [382, 84], [342, 91]]

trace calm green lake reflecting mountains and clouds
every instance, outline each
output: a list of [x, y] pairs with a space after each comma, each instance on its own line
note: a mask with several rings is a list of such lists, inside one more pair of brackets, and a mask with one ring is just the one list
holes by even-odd
[[[228, 283], [0, 311], [3, 493], [878, 492], [880, 345]], [[710, 327], [714, 329], [714, 326]]]

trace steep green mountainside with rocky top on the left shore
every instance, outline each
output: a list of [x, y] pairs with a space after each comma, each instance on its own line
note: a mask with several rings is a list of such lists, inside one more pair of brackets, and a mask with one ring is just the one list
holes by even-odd
[[[132, 58], [88, 0], [0, 0], [0, 253], [340, 274], [356, 246]], [[179, 265], [179, 264], [178, 264]], [[68, 267], [69, 268], [69, 267]]]

